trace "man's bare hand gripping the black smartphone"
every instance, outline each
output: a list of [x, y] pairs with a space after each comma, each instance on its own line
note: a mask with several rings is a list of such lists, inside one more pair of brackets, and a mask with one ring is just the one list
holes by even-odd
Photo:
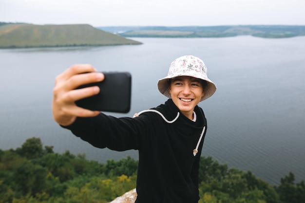
[[53, 90], [52, 112], [54, 120], [62, 126], [68, 126], [74, 123], [76, 117], [98, 115], [99, 111], [80, 108], [76, 106], [75, 101], [97, 94], [99, 88], [97, 86], [77, 90], [76, 88], [102, 80], [104, 80], [104, 74], [96, 72], [95, 68], [89, 64], [73, 65], [59, 74], [56, 77]]

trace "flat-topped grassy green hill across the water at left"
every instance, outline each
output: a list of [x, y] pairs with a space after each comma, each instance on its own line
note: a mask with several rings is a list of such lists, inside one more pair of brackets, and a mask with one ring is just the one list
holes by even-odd
[[141, 44], [87, 24], [0, 26], [0, 48], [107, 46]]

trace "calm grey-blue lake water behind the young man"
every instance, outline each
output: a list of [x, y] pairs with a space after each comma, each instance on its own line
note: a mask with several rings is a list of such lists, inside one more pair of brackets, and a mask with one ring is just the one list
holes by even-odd
[[132, 116], [164, 103], [156, 81], [167, 74], [173, 59], [196, 55], [218, 88], [200, 103], [209, 127], [202, 155], [251, 170], [271, 184], [289, 171], [297, 181], [305, 179], [305, 37], [134, 39], [144, 44], [0, 50], [0, 148], [20, 147], [35, 136], [59, 153], [86, 153], [100, 162], [137, 158], [134, 150], [93, 148], [53, 121], [56, 75], [75, 63], [131, 72], [130, 113], [108, 114]]

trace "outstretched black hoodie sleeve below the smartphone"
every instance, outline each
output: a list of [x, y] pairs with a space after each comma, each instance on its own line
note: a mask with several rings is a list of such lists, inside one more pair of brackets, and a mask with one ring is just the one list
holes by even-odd
[[129, 117], [115, 118], [100, 113], [95, 117], [81, 118], [70, 126], [73, 134], [96, 148], [110, 148], [116, 151], [138, 149], [141, 126]]

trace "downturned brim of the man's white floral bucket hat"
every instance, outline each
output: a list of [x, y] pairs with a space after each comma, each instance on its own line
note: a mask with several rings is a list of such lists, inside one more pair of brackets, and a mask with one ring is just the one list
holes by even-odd
[[[179, 75], [179, 76], [183, 76], [183, 75]], [[175, 77], [177, 77], [177, 75]], [[168, 98], [171, 98], [171, 94], [169, 92], [169, 85], [171, 78], [172, 78], [171, 76], [166, 76], [162, 79], [159, 79], [157, 83], [159, 92], [161, 92], [163, 95], [165, 95]], [[217, 88], [216, 85], [209, 78], [199, 78], [199, 79], [207, 81], [207, 86], [203, 90], [204, 95], [203, 97], [201, 97], [200, 100], [203, 101], [209, 98], [210, 96], [212, 96], [216, 92]]]

